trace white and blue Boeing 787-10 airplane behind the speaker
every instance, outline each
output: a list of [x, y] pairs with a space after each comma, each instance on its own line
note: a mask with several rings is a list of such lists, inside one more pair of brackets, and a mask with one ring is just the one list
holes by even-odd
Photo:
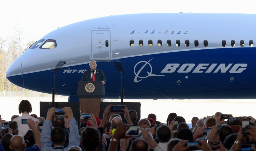
[[[256, 98], [255, 14], [144, 13], [73, 23], [43, 36], [8, 68], [25, 89], [77, 97], [89, 61], [106, 76], [105, 97], [125, 99]], [[70, 99], [69, 101], [72, 101]], [[77, 99], [76, 99], [77, 100]]]

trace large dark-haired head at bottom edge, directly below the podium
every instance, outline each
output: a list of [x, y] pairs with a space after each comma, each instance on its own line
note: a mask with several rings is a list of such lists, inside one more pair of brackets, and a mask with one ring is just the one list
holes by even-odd
[[95, 151], [100, 146], [100, 132], [93, 127], [87, 127], [81, 134], [81, 146], [86, 151]]

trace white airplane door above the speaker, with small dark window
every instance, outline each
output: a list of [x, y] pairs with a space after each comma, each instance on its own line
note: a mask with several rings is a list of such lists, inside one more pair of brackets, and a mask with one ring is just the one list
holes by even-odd
[[91, 60], [110, 61], [110, 31], [91, 31]]

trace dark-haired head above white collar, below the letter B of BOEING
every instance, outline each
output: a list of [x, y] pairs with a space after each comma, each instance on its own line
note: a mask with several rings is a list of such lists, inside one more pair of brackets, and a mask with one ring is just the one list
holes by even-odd
[[168, 142], [171, 135], [171, 129], [167, 125], [160, 125], [156, 130], [156, 136], [159, 142]]

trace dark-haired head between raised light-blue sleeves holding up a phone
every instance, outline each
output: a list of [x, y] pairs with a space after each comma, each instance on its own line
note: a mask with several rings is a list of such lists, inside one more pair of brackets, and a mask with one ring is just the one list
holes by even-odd
[[51, 132], [51, 141], [54, 145], [64, 145], [66, 141], [64, 130], [60, 127], [55, 127]]

